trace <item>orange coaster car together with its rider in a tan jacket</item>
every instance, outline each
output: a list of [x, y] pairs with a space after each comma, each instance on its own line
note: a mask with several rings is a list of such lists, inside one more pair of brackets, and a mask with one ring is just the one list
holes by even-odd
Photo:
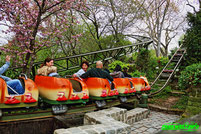
[[89, 96], [85, 83], [73, 78], [52, 77], [58, 76], [53, 62], [53, 59], [46, 58], [35, 76], [44, 105], [51, 105], [53, 114], [60, 114], [67, 112], [69, 104], [86, 104]]

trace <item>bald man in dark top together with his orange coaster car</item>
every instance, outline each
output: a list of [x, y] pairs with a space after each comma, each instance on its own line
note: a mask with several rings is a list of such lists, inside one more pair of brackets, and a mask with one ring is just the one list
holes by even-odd
[[118, 91], [111, 89], [113, 78], [103, 70], [101, 61], [96, 62], [96, 68], [90, 69], [80, 77], [88, 87], [90, 99], [94, 100], [98, 107], [106, 105], [106, 99], [117, 98]]

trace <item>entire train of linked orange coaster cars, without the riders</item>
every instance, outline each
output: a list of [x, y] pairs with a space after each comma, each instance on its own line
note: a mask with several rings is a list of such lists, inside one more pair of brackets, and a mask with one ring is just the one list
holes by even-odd
[[126, 102], [128, 96], [150, 90], [146, 77], [114, 78], [113, 82], [109, 82], [103, 78], [81, 80], [36, 75], [35, 82], [26, 76], [19, 77], [19, 80], [24, 93], [9, 94], [8, 85], [0, 78], [0, 115], [2, 109], [40, 108], [44, 104], [52, 107], [53, 114], [65, 113], [68, 105], [86, 104], [89, 99], [98, 107], [103, 107], [106, 105], [105, 100], [120, 99]]

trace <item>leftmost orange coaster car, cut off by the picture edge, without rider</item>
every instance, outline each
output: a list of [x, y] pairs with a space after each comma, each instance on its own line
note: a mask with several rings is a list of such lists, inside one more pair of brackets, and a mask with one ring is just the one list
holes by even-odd
[[[18, 93], [8, 86], [4, 79], [0, 78], [0, 117], [2, 109], [35, 107], [38, 105], [38, 88], [33, 80], [20, 76], [18, 78], [23, 87], [23, 93]], [[14, 91], [10, 94], [8, 89]]]

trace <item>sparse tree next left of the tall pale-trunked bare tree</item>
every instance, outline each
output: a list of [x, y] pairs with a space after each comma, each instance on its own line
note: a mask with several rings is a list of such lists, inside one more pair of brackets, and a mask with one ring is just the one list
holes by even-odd
[[145, 0], [105, 1], [103, 9], [108, 20], [106, 32], [114, 36], [117, 44], [120, 42], [121, 35], [132, 32], [131, 29], [136, 20], [141, 18], [144, 2]]

